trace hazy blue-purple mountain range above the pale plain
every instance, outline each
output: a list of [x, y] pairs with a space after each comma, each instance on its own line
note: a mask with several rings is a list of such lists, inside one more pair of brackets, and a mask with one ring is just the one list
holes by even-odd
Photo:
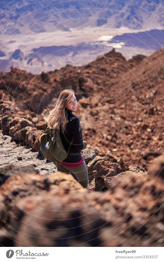
[[163, 7], [163, 0], [5, 0], [0, 2], [0, 28], [11, 35], [87, 26], [162, 29]]

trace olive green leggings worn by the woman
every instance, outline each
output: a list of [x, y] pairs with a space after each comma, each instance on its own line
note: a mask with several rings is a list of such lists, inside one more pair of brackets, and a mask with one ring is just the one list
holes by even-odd
[[66, 166], [63, 166], [62, 164], [57, 164], [56, 162], [55, 164], [57, 166], [57, 171], [60, 171], [66, 174], [70, 174], [72, 171], [72, 173], [79, 180], [79, 183], [85, 188], [88, 187], [88, 170], [87, 170], [85, 161], [79, 167], [68, 167], [68, 166], [66, 167]]

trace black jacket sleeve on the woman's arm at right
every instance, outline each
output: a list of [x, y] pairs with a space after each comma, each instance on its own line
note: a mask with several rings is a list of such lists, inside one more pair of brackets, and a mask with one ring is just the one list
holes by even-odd
[[72, 121], [72, 136], [73, 145], [76, 150], [83, 150], [85, 148], [85, 145], [83, 143], [83, 136], [79, 118]]

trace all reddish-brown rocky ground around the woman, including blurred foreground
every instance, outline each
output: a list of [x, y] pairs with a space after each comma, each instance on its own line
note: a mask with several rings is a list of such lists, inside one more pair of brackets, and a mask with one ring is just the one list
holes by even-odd
[[[163, 49], [130, 61], [112, 50], [82, 67], [1, 73], [2, 246], [163, 245], [162, 61]], [[68, 87], [88, 142], [88, 189], [39, 150], [40, 113]]]

